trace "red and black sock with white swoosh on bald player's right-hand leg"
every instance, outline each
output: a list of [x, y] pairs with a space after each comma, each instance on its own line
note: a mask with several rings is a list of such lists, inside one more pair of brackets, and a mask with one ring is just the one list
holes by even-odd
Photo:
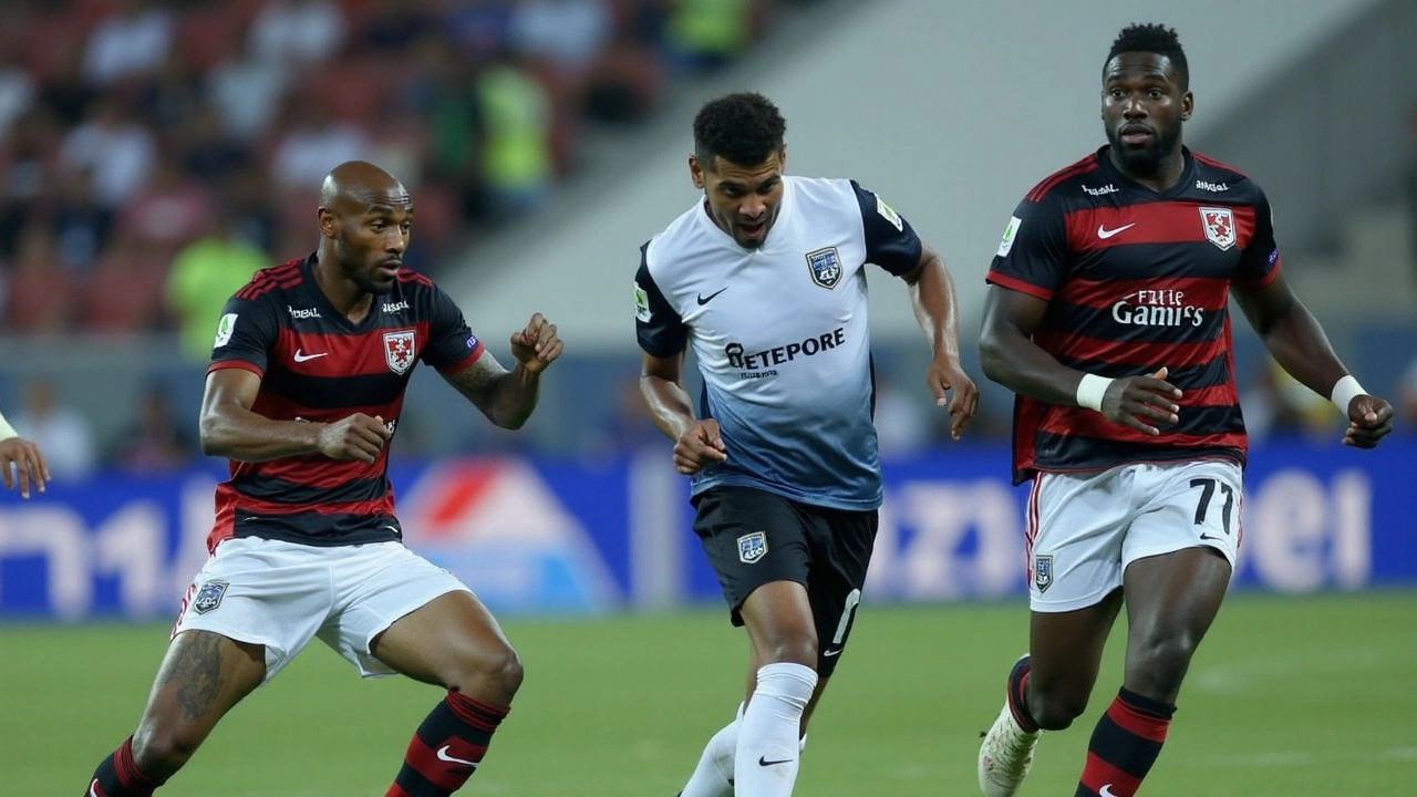
[[404, 766], [384, 797], [446, 797], [461, 788], [482, 763], [507, 710], [448, 692], [408, 742]]

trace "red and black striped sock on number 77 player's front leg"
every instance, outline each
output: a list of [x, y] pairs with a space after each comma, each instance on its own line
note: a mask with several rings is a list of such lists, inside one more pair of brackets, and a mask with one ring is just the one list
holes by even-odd
[[1132, 797], [1151, 771], [1176, 706], [1122, 691], [1097, 722], [1074, 797]]

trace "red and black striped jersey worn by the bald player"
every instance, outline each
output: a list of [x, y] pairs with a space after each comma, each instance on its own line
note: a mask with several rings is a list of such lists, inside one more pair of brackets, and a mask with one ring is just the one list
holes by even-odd
[[[400, 272], [351, 323], [315, 282], [315, 255], [264, 268], [227, 301], [207, 373], [247, 369], [261, 377], [251, 410], [282, 421], [378, 416], [397, 430], [404, 390], [424, 360], [455, 372], [482, 356], [453, 301], [427, 277]], [[390, 441], [393, 442], [393, 441]], [[306, 545], [402, 537], [388, 481], [388, 445], [373, 464], [320, 454], [266, 462], [231, 461], [217, 485], [208, 547], [258, 536]]]

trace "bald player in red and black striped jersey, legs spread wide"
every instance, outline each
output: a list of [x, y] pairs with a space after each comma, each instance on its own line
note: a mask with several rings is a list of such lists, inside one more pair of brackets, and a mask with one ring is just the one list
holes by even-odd
[[512, 335], [506, 370], [446, 294], [402, 268], [414, 206], [398, 180], [343, 163], [320, 199], [319, 250], [259, 271], [218, 323], [201, 444], [231, 459], [231, 478], [217, 488], [211, 559], [137, 730], [99, 764], [88, 797], [152, 794], [316, 637], [364, 676], [448, 689], [387, 797], [456, 791], [521, 684], [487, 608], [404, 547], [388, 445], [418, 360], [493, 424], [520, 427], [561, 353], [555, 326], [533, 315]]

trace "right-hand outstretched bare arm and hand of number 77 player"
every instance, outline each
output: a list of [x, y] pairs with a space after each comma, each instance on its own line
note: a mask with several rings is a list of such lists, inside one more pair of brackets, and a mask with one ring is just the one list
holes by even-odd
[[[1319, 396], [1333, 394], [1348, 369], [1333, 353], [1318, 319], [1294, 295], [1282, 274], [1258, 289], [1236, 285], [1234, 298], [1280, 367]], [[1393, 431], [1393, 407], [1377, 396], [1353, 396], [1340, 410], [1349, 420], [1343, 433], [1345, 445], [1372, 448]]]

